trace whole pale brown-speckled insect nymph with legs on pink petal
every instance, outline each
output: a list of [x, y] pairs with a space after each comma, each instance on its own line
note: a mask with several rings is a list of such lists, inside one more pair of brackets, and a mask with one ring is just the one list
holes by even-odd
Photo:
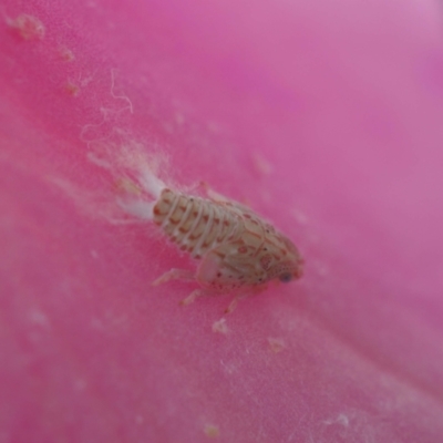
[[171, 279], [196, 280], [196, 297], [255, 293], [271, 280], [288, 282], [302, 275], [302, 259], [293, 244], [251, 209], [215, 193], [209, 198], [163, 188], [153, 206], [153, 222], [177, 247], [200, 260], [196, 272], [172, 269], [154, 285]]

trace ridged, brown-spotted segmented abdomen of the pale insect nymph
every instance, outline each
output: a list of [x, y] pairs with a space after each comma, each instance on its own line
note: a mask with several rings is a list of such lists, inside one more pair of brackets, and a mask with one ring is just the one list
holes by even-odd
[[153, 214], [154, 223], [194, 258], [237, 238], [243, 227], [238, 215], [227, 207], [168, 188], [162, 190]]

